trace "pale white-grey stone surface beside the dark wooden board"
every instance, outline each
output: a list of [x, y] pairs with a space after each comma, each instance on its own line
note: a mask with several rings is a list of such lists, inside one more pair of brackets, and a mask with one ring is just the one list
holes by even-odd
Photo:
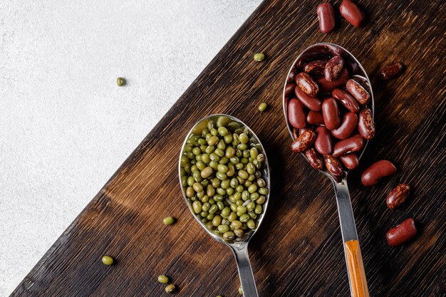
[[1, 1], [0, 296], [260, 2]]

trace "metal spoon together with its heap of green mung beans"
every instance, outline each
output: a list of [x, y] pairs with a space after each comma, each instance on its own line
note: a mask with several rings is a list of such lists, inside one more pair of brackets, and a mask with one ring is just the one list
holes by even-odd
[[259, 138], [231, 115], [202, 118], [180, 152], [180, 184], [197, 222], [234, 252], [245, 297], [257, 297], [248, 244], [269, 201], [268, 159]]

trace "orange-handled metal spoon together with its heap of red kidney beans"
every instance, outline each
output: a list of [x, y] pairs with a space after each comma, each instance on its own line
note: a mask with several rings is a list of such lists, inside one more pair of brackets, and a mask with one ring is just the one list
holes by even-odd
[[284, 115], [293, 142], [325, 174], [336, 194], [351, 296], [369, 296], [347, 175], [375, 136], [373, 91], [361, 63], [345, 48], [317, 43], [292, 64], [284, 85]]

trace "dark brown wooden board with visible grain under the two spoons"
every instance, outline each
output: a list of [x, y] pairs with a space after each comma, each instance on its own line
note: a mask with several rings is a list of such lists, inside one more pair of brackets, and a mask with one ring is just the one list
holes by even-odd
[[[339, 19], [337, 30], [324, 35], [315, 14], [319, 1], [264, 1], [12, 296], [166, 296], [160, 273], [179, 286], [175, 296], [237, 296], [232, 254], [192, 218], [177, 178], [182, 139], [210, 113], [244, 120], [271, 162], [271, 202], [250, 244], [260, 296], [348, 296], [332, 186], [291, 153], [282, 115], [290, 63], [317, 42], [346, 47], [373, 83], [377, 136], [349, 176], [370, 296], [446, 296], [446, 2], [358, 2], [365, 26]], [[267, 60], [254, 62], [257, 51]], [[395, 60], [408, 68], [384, 83], [379, 70]], [[263, 101], [271, 108], [259, 113]], [[362, 187], [361, 170], [383, 158], [398, 165], [398, 174]], [[404, 207], [390, 211], [385, 195], [399, 182], [413, 191]], [[168, 215], [177, 224], [162, 225]], [[407, 217], [415, 217], [420, 235], [390, 248], [385, 232]], [[104, 266], [103, 254], [116, 264]]]

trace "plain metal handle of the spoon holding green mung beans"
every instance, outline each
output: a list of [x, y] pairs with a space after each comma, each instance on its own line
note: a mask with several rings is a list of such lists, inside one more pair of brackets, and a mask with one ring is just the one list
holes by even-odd
[[244, 297], [258, 297], [256, 282], [252, 274], [251, 262], [248, 256], [248, 244], [243, 243], [239, 246], [231, 246], [234, 251], [237, 268], [239, 269], [240, 282], [242, 283]]

